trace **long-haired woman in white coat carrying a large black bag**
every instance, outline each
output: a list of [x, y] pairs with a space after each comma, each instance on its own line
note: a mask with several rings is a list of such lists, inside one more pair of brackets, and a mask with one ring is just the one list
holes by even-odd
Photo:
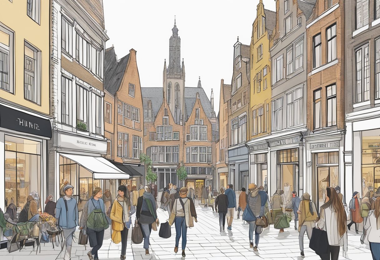
[[317, 228], [327, 231], [329, 247], [326, 254], [319, 256], [322, 260], [338, 260], [340, 246], [347, 252], [347, 215], [334, 188], [327, 187], [325, 197]]

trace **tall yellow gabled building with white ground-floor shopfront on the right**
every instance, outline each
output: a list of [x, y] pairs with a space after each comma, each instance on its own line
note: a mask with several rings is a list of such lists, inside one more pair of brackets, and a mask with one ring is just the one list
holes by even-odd
[[271, 133], [271, 53], [269, 38], [276, 22], [276, 13], [257, 5], [257, 16], [252, 26], [250, 44], [250, 182], [268, 191], [268, 143]]

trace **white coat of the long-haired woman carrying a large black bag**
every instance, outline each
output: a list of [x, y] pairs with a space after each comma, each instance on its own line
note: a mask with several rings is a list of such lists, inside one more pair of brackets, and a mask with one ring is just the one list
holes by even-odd
[[338, 218], [333, 211], [332, 205], [328, 208], [321, 208], [320, 219], [317, 228], [327, 232], [327, 238], [330, 246], [343, 246], [343, 251], [347, 252], [347, 229], [343, 235], [339, 235]]

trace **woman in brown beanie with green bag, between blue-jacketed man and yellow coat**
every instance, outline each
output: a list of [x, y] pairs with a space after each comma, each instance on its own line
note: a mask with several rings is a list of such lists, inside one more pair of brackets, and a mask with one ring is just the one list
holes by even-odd
[[90, 260], [99, 259], [98, 250], [103, 245], [104, 230], [109, 227], [108, 222], [105, 224], [99, 221], [92, 222], [92, 220], [98, 219], [95, 217], [98, 214], [103, 214], [99, 219], [106, 219], [105, 204], [101, 197], [103, 197], [103, 191], [99, 187], [95, 187], [92, 196], [84, 205], [79, 221], [79, 229], [82, 230], [83, 234], [87, 234], [90, 247], [92, 247], [91, 251], [87, 252]]

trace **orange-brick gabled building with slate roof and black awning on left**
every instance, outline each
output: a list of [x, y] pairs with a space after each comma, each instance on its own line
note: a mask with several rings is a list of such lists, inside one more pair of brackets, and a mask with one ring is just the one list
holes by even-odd
[[[109, 140], [107, 158], [130, 175], [119, 183], [109, 183], [105, 189], [117, 192], [118, 185], [125, 184], [128, 190], [139, 188], [144, 166], [140, 165], [140, 154], [144, 147], [144, 117], [142, 95], [138, 73], [136, 51], [117, 59], [114, 47], [105, 51], [105, 137]], [[115, 194], [112, 193], [112, 194]]]

